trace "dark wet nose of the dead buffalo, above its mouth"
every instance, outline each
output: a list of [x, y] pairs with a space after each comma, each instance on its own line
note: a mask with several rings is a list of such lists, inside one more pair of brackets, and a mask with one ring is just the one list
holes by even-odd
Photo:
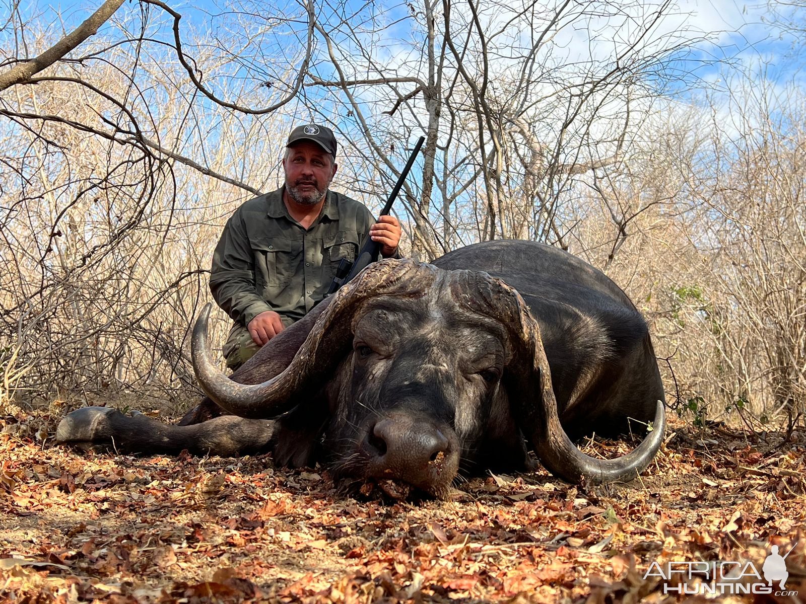
[[368, 445], [376, 463], [405, 478], [438, 461], [439, 453], [447, 453], [450, 443], [434, 424], [403, 416], [377, 422], [368, 434]]

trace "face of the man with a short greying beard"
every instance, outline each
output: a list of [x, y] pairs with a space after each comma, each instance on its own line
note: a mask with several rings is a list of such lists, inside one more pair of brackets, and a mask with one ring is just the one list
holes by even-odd
[[336, 173], [333, 156], [310, 141], [289, 147], [283, 160], [285, 190], [301, 205], [317, 205]]

